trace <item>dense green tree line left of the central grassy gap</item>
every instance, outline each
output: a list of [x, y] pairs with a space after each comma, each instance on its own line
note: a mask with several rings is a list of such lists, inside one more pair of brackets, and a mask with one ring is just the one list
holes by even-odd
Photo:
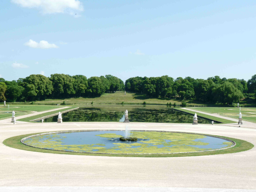
[[0, 102], [35, 101], [46, 98], [100, 97], [104, 93], [124, 90], [124, 82], [112, 75], [33, 74], [17, 81], [0, 78]]

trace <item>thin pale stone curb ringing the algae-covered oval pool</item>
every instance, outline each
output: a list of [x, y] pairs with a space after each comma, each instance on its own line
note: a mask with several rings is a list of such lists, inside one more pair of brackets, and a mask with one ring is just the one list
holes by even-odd
[[[36, 134], [36, 135], [30, 135], [27, 137], [24, 137], [20, 140], [20, 142], [24, 145], [30, 146], [30, 147], [34, 147], [28, 144], [24, 143], [24, 140], [30, 138], [30, 137], [35, 137], [35, 136], [39, 136], [39, 135], [48, 135], [48, 134], [54, 134], [54, 133], [68, 133], [68, 132], [87, 132], [87, 131], [124, 131], [124, 130], [117, 130], [117, 129], [113, 129], [113, 130], [104, 130], [104, 129], [95, 129], [95, 130], [72, 130], [72, 131], [55, 131], [55, 132], [47, 132], [47, 133], [40, 133], [40, 134]], [[209, 136], [209, 137], [216, 137], [216, 138], [220, 138], [220, 139], [224, 139], [227, 141], [230, 141], [233, 143], [232, 146], [230, 147], [225, 147], [225, 148], [221, 148], [221, 149], [214, 149], [214, 150], [207, 150], [207, 151], [219, 151], [219, 150], [224, 150], [224, 149], [228, 149], [231, 147], [236, 146], [236, 142], [227, 139], [227, 138], [223, 138], [223, 137], [218, 137], [218, 136], [211, 136], [211, 135], [206, 135], [206, 134], [201, 134], [201, 133], [188, 133], [188, 132], [179, 132], [179, 131], [156, 131], [156, 130], [131, 130], [131, 131], [150, 131], [150, 132], [170, 132], [170, 133], [186, 133], [186, 134], [194, 134], [194, 135], [204, 135], [204, 136]], [[200, 152], [207, 152], [207, 151], [195, 151], [195, 152], [180, 152], [180, 153], [95, 153], [95, 152], [80, 152], [80, 151], [65, 151], [65, 150], [54, 150], [54, 149], [46, 149], [46, 148], [41, 148], [41, 147], [35, 147], [35, 148], [40, 148], [40, 149], [45, 149], [45, 150], [53, 150], [53, 151], [64, 151], [64, 152], [74, 152], [74, 153], [89, 153], [89, 154], [120, 154], [120, 155], [143, 155], [143, 154], [180, 154], [180, 153], [200, 153]]]

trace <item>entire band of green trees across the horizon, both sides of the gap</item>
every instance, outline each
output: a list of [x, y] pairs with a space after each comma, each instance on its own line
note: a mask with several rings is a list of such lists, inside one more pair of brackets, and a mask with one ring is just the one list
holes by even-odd
[[154, 98], [196, 99], [203, 102], [232, 104], [244, 97], [256, 97], [256, 74], [251, 79], [226, 79], [219, 76], [208, 79], [169, 76], [131, 77], [124, 82], [118, 77], [105, 75], [51, 74], [45, 77], [33, 74], [17, 81], [0, 78], [0, 102], [35, 101], [46, 98], [100, 97], [114, 91], [130, 91]]

